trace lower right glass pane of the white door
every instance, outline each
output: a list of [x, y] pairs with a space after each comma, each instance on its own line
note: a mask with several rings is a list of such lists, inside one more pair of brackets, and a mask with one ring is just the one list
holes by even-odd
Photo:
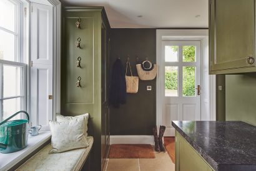
[[195, 96], [195, 67], [183, 67], [183, 96]]

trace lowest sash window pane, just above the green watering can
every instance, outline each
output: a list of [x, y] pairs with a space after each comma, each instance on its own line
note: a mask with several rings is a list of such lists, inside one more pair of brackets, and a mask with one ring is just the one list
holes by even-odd
[[[9, 116], [16, 113], [17, 111], [21, 111], [21, 98], [4, 99], [3, 111], [4, 111], [3, 119], [8, 118]], [[20, 119], [19, 114], [13, 119]]]

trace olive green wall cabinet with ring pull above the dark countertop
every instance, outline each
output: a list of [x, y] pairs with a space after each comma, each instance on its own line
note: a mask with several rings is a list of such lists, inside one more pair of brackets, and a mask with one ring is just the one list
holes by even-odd
[[256, 72], [255, 1], [209, 1], [209, 73]]

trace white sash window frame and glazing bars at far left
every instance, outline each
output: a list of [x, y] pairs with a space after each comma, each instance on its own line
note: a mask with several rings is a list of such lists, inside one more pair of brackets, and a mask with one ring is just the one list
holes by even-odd
[[[9, 0], [14, 5], [16, 5], [16, 25], [14, 32], [4, 27], [0, 27], [0, 30], [8, 32], [10, 34], [15, 35], [15, 53], [14, 53], [14, 60], [0, 60], [0, 121], [3, 120], [3, 101], [5, 99], [14, 99], [14, 98], [21, 98], [21, 110], [27, 109], [27, 64], [26, 64], [26, 53], [24, 53], [24, 29], [23, 23], [26, 21], [24, 19], [23, 13], [23, 3], [19, 0]], [[14, 67], [21, 67], [21, 95], [19, 96], [12, 96], [12, 97], [3, 97], [3, 66], [9, 65]]]

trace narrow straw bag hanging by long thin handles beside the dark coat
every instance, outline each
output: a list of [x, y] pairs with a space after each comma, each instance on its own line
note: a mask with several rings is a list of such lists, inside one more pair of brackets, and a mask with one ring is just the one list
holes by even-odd
[[130, 69], [130, 75], [127, 76], [127, 65], [129, 64], [130, 68], [130, 62], [126, 62], [126, 93], [137, 93], [139, 89], [139, 77], [138, 76], [132, 76], [132, 70]]

